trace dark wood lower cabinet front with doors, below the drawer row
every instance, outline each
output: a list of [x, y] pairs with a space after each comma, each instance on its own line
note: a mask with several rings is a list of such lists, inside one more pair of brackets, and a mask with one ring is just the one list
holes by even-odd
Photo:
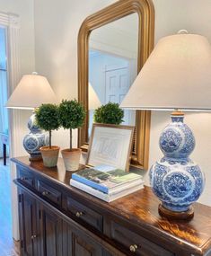
[[[101, 243], [19, 189], [23, 256], [103, 256]], [[110, 254], [112, 255], [112, 254]]]

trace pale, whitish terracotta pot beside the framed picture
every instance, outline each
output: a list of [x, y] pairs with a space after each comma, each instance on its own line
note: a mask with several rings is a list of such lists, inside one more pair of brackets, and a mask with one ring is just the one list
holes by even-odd
[[82, 150], [80, 148], [63, 149], [61, 151], [66, 171], [75, 172], [78, 170]]

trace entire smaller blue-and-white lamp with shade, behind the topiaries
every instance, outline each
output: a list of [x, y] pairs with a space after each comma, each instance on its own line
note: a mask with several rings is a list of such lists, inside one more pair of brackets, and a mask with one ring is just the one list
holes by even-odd
[[[43, 103], [56, 102], [56, 95], [47, 78], [34, 72], [32, 75], [22, 76], [20, 83], [6, 103], [6, 107], [34, 110]], [[36, 125], [34, 113], [28, 121], [28, 128], [30, 133], [23, 138], [23, 147], [30, 154], [30, 160], [37, 161], [41, 159], [40, 147], [48, 145], [48, 135]]]

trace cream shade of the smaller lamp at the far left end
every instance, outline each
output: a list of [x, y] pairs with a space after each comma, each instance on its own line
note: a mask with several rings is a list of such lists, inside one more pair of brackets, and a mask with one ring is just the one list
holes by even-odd
[[43, 103], [56, 103], [53, 92], [46, 77], [41, 75], [23, 75], [20, 83], [14, 89], [7, 108], [32, 110]]

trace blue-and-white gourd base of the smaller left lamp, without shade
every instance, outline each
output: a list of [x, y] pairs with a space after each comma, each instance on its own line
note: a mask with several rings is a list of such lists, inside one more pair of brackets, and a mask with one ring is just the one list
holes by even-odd
[[39, 161], [42, 159], [40, 147], [48, 146], [49, 138], [48, 135], [36, 125], [34, 113], [28, 121], [28, 128], [30, 129], [30, 133], [23, 138], [23, 147], [30, 154], [30, 161]]

